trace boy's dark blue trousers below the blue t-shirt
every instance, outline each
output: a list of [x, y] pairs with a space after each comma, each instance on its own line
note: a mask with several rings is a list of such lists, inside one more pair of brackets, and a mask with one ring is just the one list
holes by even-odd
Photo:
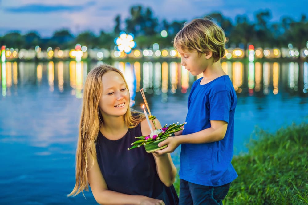
[[220, 187], [203, 186], [181, 179], [179, 205], [222, 205], [231, 183]]

